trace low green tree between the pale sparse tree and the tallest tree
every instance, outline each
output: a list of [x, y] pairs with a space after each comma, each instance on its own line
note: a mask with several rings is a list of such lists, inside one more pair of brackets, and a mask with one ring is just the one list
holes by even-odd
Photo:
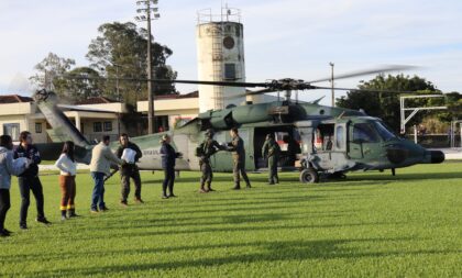
[[105, 82], [98, 71], [89, 67], [76, 67], [66, 73], [68, 76], [88, 77], [88, 79], [57, 78], [54, 81], [55, 91], [61, 97], [72, 101], [99, 97], [105, 89]]

